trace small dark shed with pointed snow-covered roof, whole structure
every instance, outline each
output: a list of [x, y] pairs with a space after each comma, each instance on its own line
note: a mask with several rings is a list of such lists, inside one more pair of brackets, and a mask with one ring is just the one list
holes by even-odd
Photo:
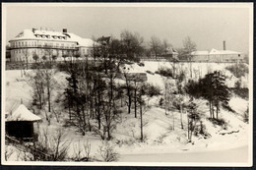
[[41, 118], [34, 115], [24, 104], [19, 107], [6, 119], [6, 134], [18, 139], [32, 139], [33, 123], [40, 121]]

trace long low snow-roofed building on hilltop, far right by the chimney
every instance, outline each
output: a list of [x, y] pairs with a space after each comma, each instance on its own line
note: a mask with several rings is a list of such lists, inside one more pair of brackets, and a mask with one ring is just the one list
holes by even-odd
[[241, 62], [243, 57], [240, 52], [230, 50], [193, 51], [192, 61], [198, 62]]

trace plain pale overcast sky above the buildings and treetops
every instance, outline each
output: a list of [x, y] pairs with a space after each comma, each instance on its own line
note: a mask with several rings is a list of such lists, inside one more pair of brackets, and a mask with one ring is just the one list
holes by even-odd
[[19, 6], [6, 8], [6, 41], [25, 28], [53, 28], [82, 37], [113, 35], [124, 29], [139, 32], [149, 41], [152, 35], [182, 46], [190, 36], [198, 50], [223, 49], [248, 52], [248, 8], [187, 7], [59, 7]]

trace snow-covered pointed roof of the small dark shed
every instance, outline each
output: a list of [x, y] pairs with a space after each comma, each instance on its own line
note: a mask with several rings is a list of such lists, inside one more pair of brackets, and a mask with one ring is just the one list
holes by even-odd
[[10, 121], [39, 121], [40, 117], [32, 114], [32, 112], [24, 105], [21, 104], [13, 113], [7, 117], [7, 122]]

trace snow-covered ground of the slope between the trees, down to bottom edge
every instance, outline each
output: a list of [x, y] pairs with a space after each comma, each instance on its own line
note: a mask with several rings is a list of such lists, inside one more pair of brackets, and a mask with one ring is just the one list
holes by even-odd
[[[144, 62], [145, 66], [140, 67], [137, 64], [129, 65], [131, 73], [140, 72], [147, 73], [151, 71], [155, 73], [160, 67], [171, 68], [169, 63], [163, 62]], [[193, 63], [192, 68], [195, 70], [193, 78], [198, 79], [204, 77], [207, 73], [221, 70], [228, 76], [227, 85], [233, 86], [237, 81], [231, 73], [224, 69], [229, 64], [213, 64], [213, 63]], [[180, 68], [189, 68], [188, 64], [179, 64]], [[32, 72], [32, 71], [26, 71]], [[198, 74], [197, 74], [198, 73]], [[149, 74], [148, 82], [154, 85], [159, 85], [163, 88], [164, 78], [158, 74]], [[65, 88], [67, 75], [57, 72], [55, 79], [58, 84], [55, 88], [54, 97], [57, 91]], [[197, 78], [198, 77], [198, 78]], [[25, 78], [21, 78], [21, 71], [13, 70], [6, 71], [6, 96], [5, 107], [6, 114], [10, 113], [12, 109], [23, 103], [30, 108], [32, 102], [32, 89], [26, 83]], [[248, 78], [242, 78], [242, 86], [248, 85]], [[208, 119], [209, 110], [202, 101], [200, 107], [205, 110], [203, 123], [207, 127], [207, 132], [211, 134], [211, 138], [204, 139], [202, 137], [193, 137], [193, 143], [187, 143], [187, 116], [183, 114], [184, 129], [180, 127], [180, 114], [178, 111], [173, 111], [165, 115], [164, 109], [160, 108], [160, 97], [155, 96], [149, 99], [151, 107], [144, 114], [144, 132], [146, 140], [140, 142], [140, 119], [134, 118], [133, 110], [131, 114], [122, 114], [121, 121], [116, 125], [113, 132], [113, 140], [110, 143], [119, 154], [118, 161], [120, 162], [248, 162], [248, 141], [249, 141], [249, 128], [250, 125], [242, 121], [242, 114], [246, 111], [248, 101], [233, 95], [229, 101], [230, 107], [236, 114], [221, 110], [221, 117], [227, 122], [227, 129], [222, 129], [219, 126], [213, 125]], [[126, 111], [126, 107], [124, 108]], [[66, 112], [66, 113], [65, 113]], [[49, 135], [54, 135], [56, 130], [62, 129], [65, 134], [63, 142], [69, 142], [70, 147], [68, 154], [72, 157], [76, 154], [78, 149], [84, 152], [83, 144], [85, 142], [91, 143], [91, 156], [98, 160], [98, 146], [101, 144], [100, 137], [95, 133], [87, 133], [82, 136], [77, 132], [75, 127], [63, 127], [65, 119], [67, 118], [67, 111], [63, 110], [62, 119], [58, 123], [54, 117], [51, 119], [50, 125], [45, 120], [45, 116], [40, 114], [42, 122], [39, 123], [40, 129], [47, 128]], [[174, 119], [175, 130], [172, 130]], [[230, 144], [231, 143], [231, 144]], [[12, 145], [7, 146], [15, 147]], [[7, 148], [6, 147], [6, 148]], [[13, 154], [9, 160], [19, 161], [22, 160], [19, 154]], [[100, 161], [100, 159], [99, 159]]]

